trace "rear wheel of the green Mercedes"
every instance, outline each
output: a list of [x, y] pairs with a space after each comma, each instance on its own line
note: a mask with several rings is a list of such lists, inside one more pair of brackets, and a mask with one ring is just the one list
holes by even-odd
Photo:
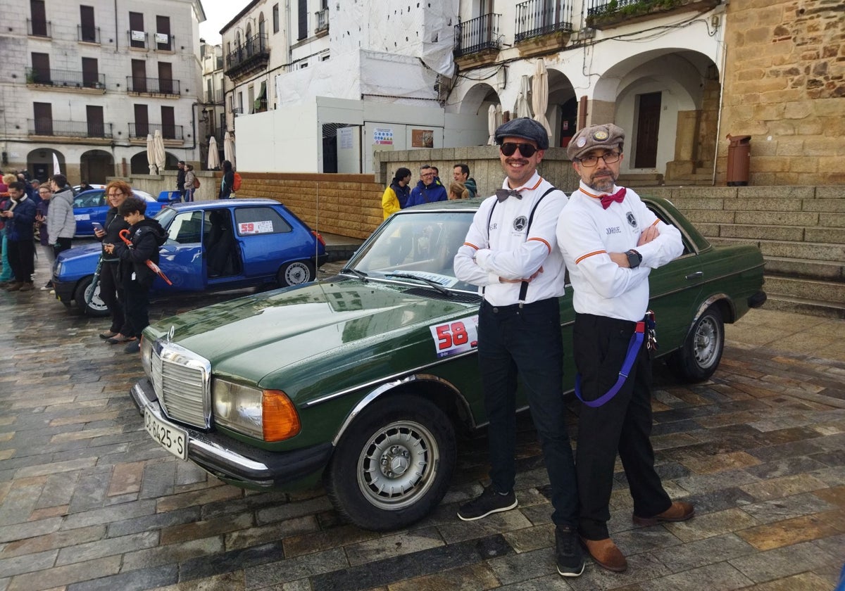
[[670, 356], [668, 365], [686, 382], [703, 382], [716, 371], [724, 348], [722, 312], [710, 306], [695, 321], [681, 348]]

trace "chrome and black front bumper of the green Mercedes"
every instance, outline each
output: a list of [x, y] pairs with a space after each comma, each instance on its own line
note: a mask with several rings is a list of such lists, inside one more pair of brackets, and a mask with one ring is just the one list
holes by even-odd
[[[149, 409], [155, 418], [185, 429], [169, 420], [150, 380], [140, 379], [129, 391], [140, 413]], [[332, 452], [330, 442], [292, 452], [268, 452], [220, 433], [188, 431], [188, 460], [223, 480], [253, 488], [285, 488], [322, 472]]]

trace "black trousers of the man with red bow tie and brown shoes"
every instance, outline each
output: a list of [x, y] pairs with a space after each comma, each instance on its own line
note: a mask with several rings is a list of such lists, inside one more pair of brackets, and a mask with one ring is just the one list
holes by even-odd
[[[598, 399], [616, 383], [634, 329], [635, 323], [625, 320], [575, 315], [573, 351], [583, 399]], [[598, 408], [580, 407], [575, 471], [581, 501], [578, 527], [586, 539], [610, 537], [609, 502], [617, 452], [628, 477], [635, 515], [652, 517], [671, 506], [654, 469], [650, 436], [651, 355], [644, 341], [619, 393]]]

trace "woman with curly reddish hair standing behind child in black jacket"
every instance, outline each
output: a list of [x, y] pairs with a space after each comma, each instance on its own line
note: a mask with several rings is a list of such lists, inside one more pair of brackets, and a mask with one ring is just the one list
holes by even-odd
[[[120, 230], [128, 230], [129, 225], [126, 220], [123, 220], [123, 216], [117, 215], [117, 207], [130, 195], [132, 195], [132, 187], [129, 187], [128, 182], [112, 181], [106, 185], [106, 199], [111, 206], [106, 213], [106, 225], [94, 228], [94, 236], [103, 245], [122, 242]], [[126, 343], [134, 340], [134, 337], [128, 336], [132, 333], [132, 328], [123, 314], [123, 289], [117, 281], [117, 264], [120, 259], [116, 255], [107, 253], [105, 248], [101, 257], [100, 298], [112, 314], [112, 326], [106, 332], [100, 333], [100, 338], [106, 339], [108, 344]]]

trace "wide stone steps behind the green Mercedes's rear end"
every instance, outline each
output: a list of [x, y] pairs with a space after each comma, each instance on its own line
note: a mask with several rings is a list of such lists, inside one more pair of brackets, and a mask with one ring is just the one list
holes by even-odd
[[845, 187], [642, 187], [713, 244], [755, 244], [766, 308], [845, 318]]

